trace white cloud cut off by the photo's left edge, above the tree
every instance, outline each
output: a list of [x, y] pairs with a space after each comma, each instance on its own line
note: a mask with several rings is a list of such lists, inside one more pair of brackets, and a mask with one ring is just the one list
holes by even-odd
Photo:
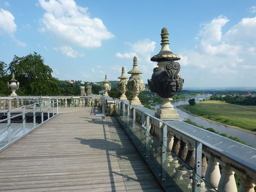
[[4, 33], [8, 34], [19, 46], [24, 47], [26, 44], [16, 39], [14, 35], [15, 31], [17, 30], [14, 19], [15, 18], [11, 12], [0, 9], [0, 29], [3, 30]]

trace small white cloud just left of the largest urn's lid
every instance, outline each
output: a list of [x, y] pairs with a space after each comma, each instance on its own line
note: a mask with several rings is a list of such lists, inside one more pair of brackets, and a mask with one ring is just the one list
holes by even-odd
[[125, 45], [130, 46], [131, 52], [128, 53], [116, 53], [115, 56], [119, 58], [132, 59], [134, 56], [138, 57], [138, 60], [151, 63], [150, 54], [155, 50], [156, 42], [150, 41], [150, 39], [139, 40], [133, 44], [125, 42]]

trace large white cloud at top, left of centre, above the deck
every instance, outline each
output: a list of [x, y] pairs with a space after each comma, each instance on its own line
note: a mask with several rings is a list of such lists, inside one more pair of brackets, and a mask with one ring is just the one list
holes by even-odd
[[39, 0], [39, 4], [46, 11], [40, 31], [48, 30], [65, 43], [99, 47], [103, 39], [114, 37], [101, 19], [90, 18], [88, 8], [76, 5], [74, 0]]

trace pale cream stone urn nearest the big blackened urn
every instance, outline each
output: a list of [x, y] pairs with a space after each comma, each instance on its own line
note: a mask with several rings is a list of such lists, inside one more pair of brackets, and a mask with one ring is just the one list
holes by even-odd
[[140, 76], [142, 72], [138, 70], [137, 61], [137, 57], [133, 57], [133, 68], [128, 72], [128, 74], [131, 74], [131, 77], [129, 78], [126, 86], [127, 90], [132, 93], [132, 100], [130, 102], [131, 105], [141, 105], [138, 95], [145, 88], [145, 84]]

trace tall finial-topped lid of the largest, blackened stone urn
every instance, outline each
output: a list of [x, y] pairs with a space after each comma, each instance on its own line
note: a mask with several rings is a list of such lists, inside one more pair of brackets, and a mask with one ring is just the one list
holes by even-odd
[[160, 50], [160, 52], [151, 57], [151, 61], [157, 61], [157, 62], [161, 62], [161, 61], [176, 61], [176, 60], [180, 60], [180, 56], [178, 56], [177, 54], [174, 54], [173, 52], [171, 52], [170, 48], [169, 48], [169, 33], [166, 27], [163, 27], [162, 31], [161, 31], [161, 45], [162, 48]]

